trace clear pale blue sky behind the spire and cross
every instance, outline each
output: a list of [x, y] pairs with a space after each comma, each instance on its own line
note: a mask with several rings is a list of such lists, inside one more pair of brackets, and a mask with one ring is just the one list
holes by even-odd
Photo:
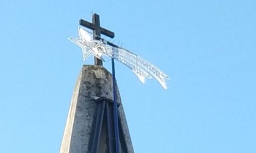
[[[1, 1], [0, 152], [59, 152], [82, 64], [80, 18], [171, 80], [116, 62], [135, 152], [256, 152], [256, 1]], [[104, 63], [109, 69], [110, 63]], [[110, 69], [109, 69], [110, 70]]]

